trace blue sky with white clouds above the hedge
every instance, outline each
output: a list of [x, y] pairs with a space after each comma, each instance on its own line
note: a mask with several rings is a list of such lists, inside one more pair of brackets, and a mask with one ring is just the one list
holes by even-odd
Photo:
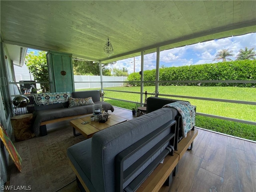
[[[236, 56], [240, 49], [245, 47], [254, 48], [256, 51], [256, 33], [250, 33], [241, 36], [233, 36], [218, 40], [212, 40], [208, 42], [197, 43], [180, 48], [174, 48], [170, 50], [164, 50], [160, 52], [160, 66], [165, 67], [172, 66], [185, 66], [185, 65], [197, 65], [205, 63], [216, 63], [219, 61], [213, 61], [218, 51], [223, 49], [232, 50], [234, 57], [230, 57], [232, 60], [236, 60]], [[128, 58], [125, 60], [117, 61], [116, 64], [110, 68], [123, 67], [128, 69], [128, 73], [132, 73], [134, 70], [134, 58]], [[156, 68], [156, 53], [147, 54], [144, 57], [144, 70], [152, 70]], [[140, 56], [135, 57], [135, 72], [140, 71]]]

